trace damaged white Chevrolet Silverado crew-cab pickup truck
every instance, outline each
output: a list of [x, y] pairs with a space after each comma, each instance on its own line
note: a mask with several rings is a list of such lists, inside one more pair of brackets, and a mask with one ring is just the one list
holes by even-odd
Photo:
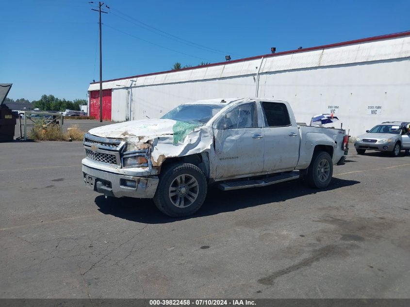
[[98, 193], [153, 198], [163, 213], [181, 217], [201, 207], [210, 184], [226, 191], [302, 177], [326, 188], [347, 141], [343, 129], [297, 125], [285, 101], [201, 100], [160, 119], [91, 129], [82, 174]]

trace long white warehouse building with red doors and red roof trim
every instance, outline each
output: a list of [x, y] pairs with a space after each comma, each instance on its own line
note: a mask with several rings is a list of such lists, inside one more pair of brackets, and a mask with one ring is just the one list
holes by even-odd
[[[410, 121], [410, 32], [103, 81], [103, 119], [161, 117], [187, 101], [265, 97], [288, 101], [298, 122], [334, 113], [350, 135]], [[89, 114], [99, 116], [99, 83]]]

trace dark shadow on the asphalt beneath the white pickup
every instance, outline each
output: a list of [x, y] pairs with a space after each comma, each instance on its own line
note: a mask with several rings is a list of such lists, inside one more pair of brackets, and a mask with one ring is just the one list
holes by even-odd
[[236, 211], [248, 207], [283, 202], [296, 197], [310, 194], [324, 193], [360, 183], [356, 180], [333, 178], [328, 188], [323, 190], [312, 189], [301, 182], [283, 182], [262, 188], [252, 188], [234, 191], [220, 191], [211, 186], [204, 204], [197, 213], [184, 218], [171, 218], [162, 214], [151, 199], [113, 198], [100, 195], [95, 198], [98, 210], [129, 221], [145, 224], [172, 223], [185, 219], [214, 215], [222, 212]]

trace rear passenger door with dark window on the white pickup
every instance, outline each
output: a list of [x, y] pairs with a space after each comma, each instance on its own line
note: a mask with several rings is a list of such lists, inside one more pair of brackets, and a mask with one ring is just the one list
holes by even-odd
[[299, 129], [286, 104], [261, 101], [265, 142], [263, 171], [294, 168], [299, 158]]

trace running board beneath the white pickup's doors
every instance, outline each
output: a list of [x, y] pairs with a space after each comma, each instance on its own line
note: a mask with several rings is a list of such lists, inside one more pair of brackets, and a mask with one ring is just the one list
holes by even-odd
[[241, 181], [229, 181], [224, 183], [219, 183], [218, 188], [222, 191], [247, 189], [255, 187], [265, 187], [267, 185], [289, 181], [299, 178], [299, 171], [293, 171], [290, 173], [284, 173], [277, 176], [272, 176], [269, 178], [262, 178], [256, 180], [241, 180]]

